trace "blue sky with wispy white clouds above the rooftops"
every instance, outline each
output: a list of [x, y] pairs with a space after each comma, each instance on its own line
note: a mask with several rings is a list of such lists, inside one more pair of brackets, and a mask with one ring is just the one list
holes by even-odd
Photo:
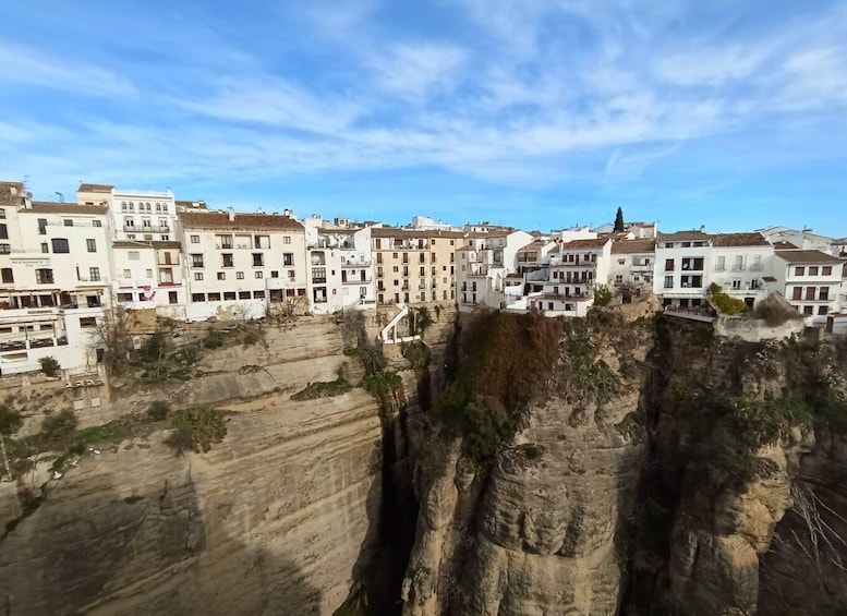
[[0, 179], [847, 235], [847, 2], [3, 2]]

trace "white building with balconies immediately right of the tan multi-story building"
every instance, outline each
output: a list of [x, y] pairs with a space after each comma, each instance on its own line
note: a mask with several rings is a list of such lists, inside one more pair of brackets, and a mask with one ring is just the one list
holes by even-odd
[[[524, 231], [472, 232], [456, 251], [459, 310], [505, 307], [520, 293], [518, 252], [532, 235]], [[512, 278], [509, 278], [509, 276]]]

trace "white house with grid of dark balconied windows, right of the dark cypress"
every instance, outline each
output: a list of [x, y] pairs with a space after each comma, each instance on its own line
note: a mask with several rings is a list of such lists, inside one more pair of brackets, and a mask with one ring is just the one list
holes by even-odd
[[658, 233], [653, 293], [665, 306], [706, 305], [711, 257], [710, 235], [702, 230]]

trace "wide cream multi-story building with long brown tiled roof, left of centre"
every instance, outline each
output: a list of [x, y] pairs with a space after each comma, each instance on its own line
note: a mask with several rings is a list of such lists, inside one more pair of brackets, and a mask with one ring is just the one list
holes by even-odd
[[305, 230], [282, 214], [180, 212], [190, 321], [259, 318], [269, 304], [307, 299]]

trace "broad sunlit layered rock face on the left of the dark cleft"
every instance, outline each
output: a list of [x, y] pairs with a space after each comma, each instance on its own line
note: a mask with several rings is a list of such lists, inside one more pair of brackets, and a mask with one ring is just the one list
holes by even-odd
[[[239, 348], [220, 360], [228, 373], [155, 394], [177, 407], [220, 397], [225, 381], [243, 382], [226, 398], [268, 392], [226, 404], [227, 436], [209, 452], [176, 456], [155, 432], [49, 481], [40, 507], [0, 540], [5, 613], [331, 614], [376, 540], [382, 428], [363, 389], [290, 399], [348, 360], [331, 322], [311, 327], [281, 333], [269, 351], [279, 361], [262, 372], [239, 374], [263, 361]], [[149, 399], [135, 394], [113, 412]], [[1, 510], [12, 518], [14, 505]]]

